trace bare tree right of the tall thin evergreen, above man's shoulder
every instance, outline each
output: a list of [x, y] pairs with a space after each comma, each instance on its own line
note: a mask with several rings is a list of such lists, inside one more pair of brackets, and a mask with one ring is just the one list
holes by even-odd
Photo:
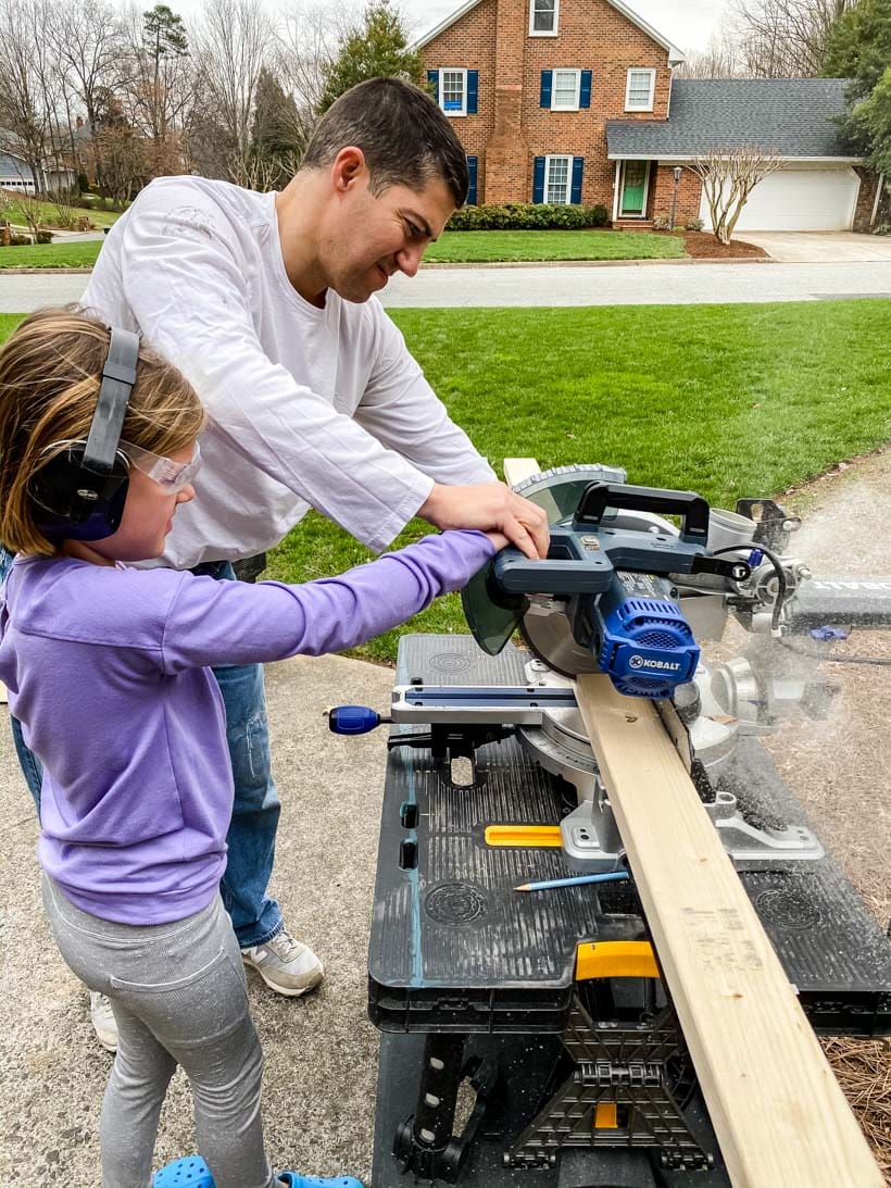
[[274, 38], [274, 25], [260, 0], [207, 0], [194, 38], [197, 87], [225, 138], [233, 181], [241, 181], [249, 168], [257, 83]]

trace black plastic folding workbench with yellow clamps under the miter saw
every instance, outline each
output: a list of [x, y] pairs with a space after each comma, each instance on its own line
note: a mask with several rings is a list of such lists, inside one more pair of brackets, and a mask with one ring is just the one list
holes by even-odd
[[[527, 659], [406, 636], [397, 684], [522, 687]], [[495, 823], [518, 836], [558, 826], [574, 789], [516, 739], [478, 747], [469, 785], [454, 766], [407, 746], [387, 764], [368, 981], [383, 1032], [374, 1188], [726, 1188], [633, 884], [517, 893], [577, 868], [558, 845], [486, 841]], [[756, 739], [718, 791], [748, 821], [808, 828]], [[771, 865], [740, 878], [814, 1028], [889, 1034], [891, 950], [839, 867]]]

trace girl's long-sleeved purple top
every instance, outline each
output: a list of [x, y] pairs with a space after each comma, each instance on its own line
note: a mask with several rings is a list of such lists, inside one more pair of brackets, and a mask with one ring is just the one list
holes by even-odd
[[493, 552], [481, 532], [444, 532], [305, 586], [17, 558], [0, 588], [0, 680], [44, 765], [43, 867], [105, 920], [200, 911], [226, 865], [233, 798], [210, 665], [352, 647]]

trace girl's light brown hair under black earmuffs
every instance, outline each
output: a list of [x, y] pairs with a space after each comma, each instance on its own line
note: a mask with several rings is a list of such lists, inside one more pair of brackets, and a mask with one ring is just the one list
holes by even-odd
[[[88, 436], [109, 341], [108, 327], [69, 307], [32, 314], [0, 348], [0, 542], [12, 552], [59, 552], [34, 523], [29, 484], [63, 448], [49, 447]], [[121, 437], [170, 455], [203, 423], [191, 384], [140, 345]]]

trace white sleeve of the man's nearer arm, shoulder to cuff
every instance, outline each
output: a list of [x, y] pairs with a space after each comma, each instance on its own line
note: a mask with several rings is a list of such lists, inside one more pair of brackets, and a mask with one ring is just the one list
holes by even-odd
[[230, 448], [369, 548], [386, 548], [432, 480], [268, 359], [220, 216], [208, 210], [196, 233], [195, 214], [182, 228], [177, 209], [133, 210], [127, 221], [124, 286], [143, 333], [195, 384]]

